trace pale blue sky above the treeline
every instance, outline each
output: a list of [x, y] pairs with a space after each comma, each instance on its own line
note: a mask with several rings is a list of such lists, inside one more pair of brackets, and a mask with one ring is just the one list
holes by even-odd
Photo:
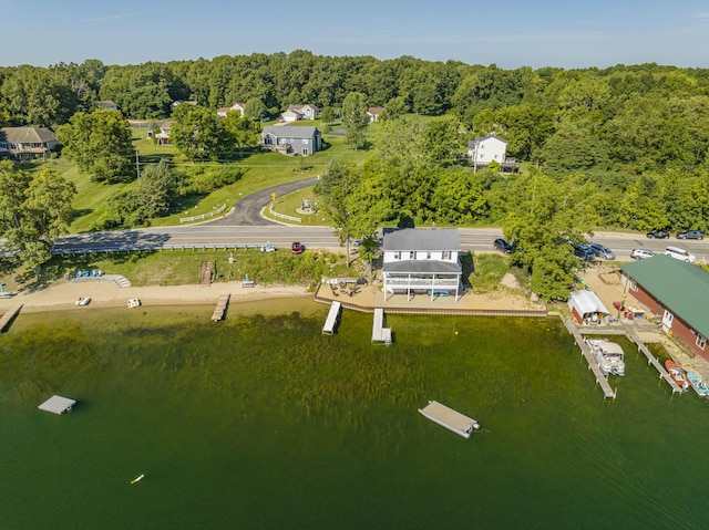
[[[709, 67], [709, 0], [0, 0], [0, 65], [411, 55], [503, 69]], [[12, 43], [12, 44], [10, 44]]]

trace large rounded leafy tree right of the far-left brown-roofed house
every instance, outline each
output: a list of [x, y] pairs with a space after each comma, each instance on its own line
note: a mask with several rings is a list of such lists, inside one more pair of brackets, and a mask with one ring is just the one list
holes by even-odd
[[79, 112], [56, 129], [62, 155], [94, 180], [119, 183], [135, 178], [131, 124], [119, 111]]

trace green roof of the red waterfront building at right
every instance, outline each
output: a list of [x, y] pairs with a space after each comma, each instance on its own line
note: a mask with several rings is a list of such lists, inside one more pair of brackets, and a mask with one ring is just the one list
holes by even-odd
[[709, 336], [709, 272], [664, 254], [620, 269], [676, 316]]

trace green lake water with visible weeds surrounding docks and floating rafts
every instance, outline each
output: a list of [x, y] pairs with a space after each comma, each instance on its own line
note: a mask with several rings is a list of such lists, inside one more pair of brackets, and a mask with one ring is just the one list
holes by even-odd
[[[322, 336], [309, 301], [212, 309], [29, 313], [0, 336], [0, 528], [707, 527], [709, 403], [626, 342], [604, 401], [558, 320], [392, 315], [386, 347], [368, 314]], [[74, 412], [38, 411], [53, 394]]]

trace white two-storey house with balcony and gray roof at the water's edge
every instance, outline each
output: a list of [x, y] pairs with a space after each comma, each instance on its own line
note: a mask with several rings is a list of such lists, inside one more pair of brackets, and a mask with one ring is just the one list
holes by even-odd
[[462, 266], [456, 228], [384, 229], [383, 290], [388, 294], [455, 295], [461, 292]]

